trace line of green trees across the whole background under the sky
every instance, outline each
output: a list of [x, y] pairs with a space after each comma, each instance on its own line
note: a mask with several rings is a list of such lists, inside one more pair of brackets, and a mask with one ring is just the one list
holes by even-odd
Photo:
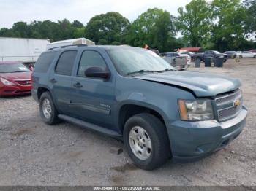
[[[0, 28], [0, 36], [50, 39], [50, 42], [86, 37], [97, 44], [145, 44], [160, 52], [179, 47], [248, 50], [256, 42], [256, 0], [192, 0], [178, 8], [178, 17], [163, 9], [148, 9], [129, 23], [118, 12], [92, 17], [86, 26], [78, 20], [14, 23]], [[181, 34], [182, 37], [176, 37]], [[178, 35], [180, 36], [180, 35]]]

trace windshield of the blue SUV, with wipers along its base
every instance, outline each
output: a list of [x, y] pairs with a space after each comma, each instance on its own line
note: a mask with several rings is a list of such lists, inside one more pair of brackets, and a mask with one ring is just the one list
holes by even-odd
[[[121, 75], [137, 71], [167, 71], [176, 70], [163, 58], [150, 50], [140, 48], [120, 48], [108, 50], [110, 58]], [[143, 72], [141, 72], [143, 73]]]

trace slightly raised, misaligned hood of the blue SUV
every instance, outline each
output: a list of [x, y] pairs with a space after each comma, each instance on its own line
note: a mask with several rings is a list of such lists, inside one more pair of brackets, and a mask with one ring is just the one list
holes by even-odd
[[240, 80], [236, 78], [192, 71], [168, 71], [135, 78], [184, 87], [192, 90], [197, 97], [215, 96], [241, 86]]

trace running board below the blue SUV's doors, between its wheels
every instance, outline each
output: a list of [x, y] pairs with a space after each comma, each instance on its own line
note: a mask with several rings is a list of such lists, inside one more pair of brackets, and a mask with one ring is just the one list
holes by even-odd
[[81, 126], [83, 128], [89, 129], [89, 130], [95, 130], [95, 131], [97, 131], [99, 133], [104, 133], [104, 134], [106, 134], [108, 136], [111, 136], [111, 137], [114, 137], [114, 138], [118, 138], [118, 139], [122, 138], [121, 134], [116, 133], [116, 131], [109, 130], [109, 129], [106, 129], [106, 128], [102, 128], [102, 127], [100, 127], [98, 125], [94, 125], [94, 124], [92, 124], [90, 122], [85, 122], [83, 120], [78, 120], [78, 119], [76, 119], [74, 117], [69, 117], [69, 116], [67, 116], [65, 114], [59, 114], [58, 117], [61, 120], [64, 120], [64, 121], [67, 121], [67, 122], [71, 122], [71, 123], [73, 123], [75, 125]]

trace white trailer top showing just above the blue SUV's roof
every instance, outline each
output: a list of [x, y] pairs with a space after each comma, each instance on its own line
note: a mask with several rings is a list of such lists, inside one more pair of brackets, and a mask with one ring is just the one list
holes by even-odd
[[79, 38], [79, 39], [68, 39], [62, 41], [56, 41], [47, 45], [47, 50], [56, 47], [65, 47], [65, 46], [72, 46], [72, 45], [95, 45], [95, 43], [86, 38]]

